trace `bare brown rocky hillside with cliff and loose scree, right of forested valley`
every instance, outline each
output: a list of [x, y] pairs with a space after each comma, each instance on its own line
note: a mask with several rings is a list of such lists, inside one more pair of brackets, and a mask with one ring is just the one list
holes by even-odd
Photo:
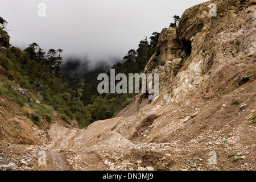
[[[216, 17], [208, 14], [212, 2]], [[48, 144], [27, 149], [30, 168], [255, 170], [255, 10], [252, 0], [186, 10], [177, 28], [163, 29], [145, 68], [160, 74], [159, 98], [139, 94], [115, 118], [83, 130], [51, 125]], [[8, 147], [23, 146], [0, 150]], [[36, 163], [39, 150], [46, 166]]]

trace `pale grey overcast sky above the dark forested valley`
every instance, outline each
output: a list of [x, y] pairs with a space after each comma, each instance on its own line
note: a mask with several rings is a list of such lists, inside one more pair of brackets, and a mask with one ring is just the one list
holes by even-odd
[[[3, 0], [0, 16], [9, 22], [11, 44], [36, 42], [44, 51], [64, 49], [63, 57], [122, 59], [144, 36], [160, 32], [191, 6], [205, 0]], [[39, 3], [46, 17], [39, 17]]]

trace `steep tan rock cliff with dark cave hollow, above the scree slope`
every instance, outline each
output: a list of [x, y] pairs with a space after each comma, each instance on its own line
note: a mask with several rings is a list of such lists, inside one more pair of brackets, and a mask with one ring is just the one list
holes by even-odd
[[[209, 16], [210, 3], [217, 5], [216, 17]], [[185, 104], [214, 98], [254, 66], [255, 8], [253, 1], [205, 2], [186, 10], [176, 29], [164, 28], [145, 69], [160, 74], [160, 100]]]

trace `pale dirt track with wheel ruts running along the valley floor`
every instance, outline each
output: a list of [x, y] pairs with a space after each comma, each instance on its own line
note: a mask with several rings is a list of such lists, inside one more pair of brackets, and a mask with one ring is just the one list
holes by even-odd
[[[43, 148], [47, 150], [47, 170], [51, 171], [70, 171], [70, 170], [86, 170], [86, 171], [102, 171], [106, 170], [106, 166], [97, 155], [93, 152], [83, 152], [82, 155], [79, 151], [73, 151], [75, 145], [75, 138], [79, 137], [82, 133], [81, 129], [65, 129], [59, 125], [55, 125], [62, 134], [59, 138], [53, 139], [52, 143]], [[80, 166], [71, 166], [68, 163], [67, 155], [76, 155], [76, 160], [82, 160], [83, 168]], [[77, 155], [79, 154], [79, 155]]]

